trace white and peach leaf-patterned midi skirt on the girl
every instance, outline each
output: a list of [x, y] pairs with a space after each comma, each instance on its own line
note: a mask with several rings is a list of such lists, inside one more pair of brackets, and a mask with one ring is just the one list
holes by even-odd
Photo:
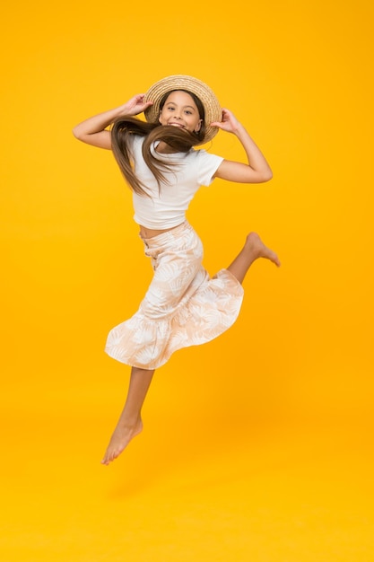
[[135, 315], [109, 332], [105, 351], [121, 363], [161, 367], [182, 347], [217, 338], [236, 321], [243, 287], [227, 269], [210, 278], [203, 244], [187, 222], [144, 239], [154, 276]]

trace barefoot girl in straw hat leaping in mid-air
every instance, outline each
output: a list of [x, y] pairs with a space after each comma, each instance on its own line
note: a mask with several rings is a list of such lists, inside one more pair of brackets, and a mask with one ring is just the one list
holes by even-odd
[[[134, 118], [142, 112], [146, 121]], [[218, 129], [238, 137], [248, 163], [193, 148]], [[109, 332], [107, 353], [132, 370], [125, 408], [101, 461], [108, 465], [142, 431], [141, 410], [154, 370], [177, 349], [202, 344], [230, 328], [239, 314], [241, 284], [255, 259], [280, 266], [274, 251], [250, 233], [230, 266], [211, 279], [202, 266], [202, 243], [186, 221], [196, 190], [214, 178], [268, 181], [272, 171], [230, 110], [220, 108], [205, 83], [187, 75], [168, 76], [146, 94], [83, 121], [74, 127], [74, 136], [113, 151], [133, 190], [135, 222], [154, 271], [138, 311]]]

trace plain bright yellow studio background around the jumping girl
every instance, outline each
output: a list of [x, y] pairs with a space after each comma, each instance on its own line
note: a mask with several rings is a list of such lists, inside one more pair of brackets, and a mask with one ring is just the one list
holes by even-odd
[[[370, 562], [373, 7], [3, 7], [1, 558]], [[103, 353], [151, 278], [112, 155], [74, 125], [164, 75], [209, 83], [274, 171], [188, 218], [213, 274], [256, 230], [239, 321], [156, 373], [100, 466], [128, 368]], [[208, 149], [242, 159], [233, 136]]]

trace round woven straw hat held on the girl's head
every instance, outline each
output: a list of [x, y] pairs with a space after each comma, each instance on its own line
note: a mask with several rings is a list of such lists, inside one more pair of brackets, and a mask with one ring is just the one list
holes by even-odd
[[218, 133], [217, 127], [210, 127], [214, 121], [222, 120], [222, 109], [214, 92], [206, 85], [206, 83], [187, 75], [172, 75], [162, 78], [159, 82], [154, 83], [148, 92], [145, 93], [144, 101], [153, 101], [153, 105], [144, 111], [145, 119], [150, 123], [157, 123], [160, 116], [160, 102], [167, 92], [172, 90], [187, 90], [187, 92], [195, 93], [199, 100], [203, 103], [205, 111], [205, 136], [199, 143], [203, 145], [207, 141], [212, 140], [213, 136]]

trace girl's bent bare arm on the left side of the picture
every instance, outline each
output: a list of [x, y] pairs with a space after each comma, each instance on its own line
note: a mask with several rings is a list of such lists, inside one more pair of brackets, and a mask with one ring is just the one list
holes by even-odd
[[121, 117], [122, 115], [138, 115], [150, 105], [152, 105], [152, 101], [144, 102], [144, 93], [138, 93], [131, 98], [131, 100], [126, 101], [126, 103], [114, 110], [104, 111], [99, 115], [94, 115], [89, 119], [85, 119], [85, 121], [74, 127], [73, 135], [87, 145], [110, 150], [110, 131], [107, 127], [109, 127], [117, 117]]

